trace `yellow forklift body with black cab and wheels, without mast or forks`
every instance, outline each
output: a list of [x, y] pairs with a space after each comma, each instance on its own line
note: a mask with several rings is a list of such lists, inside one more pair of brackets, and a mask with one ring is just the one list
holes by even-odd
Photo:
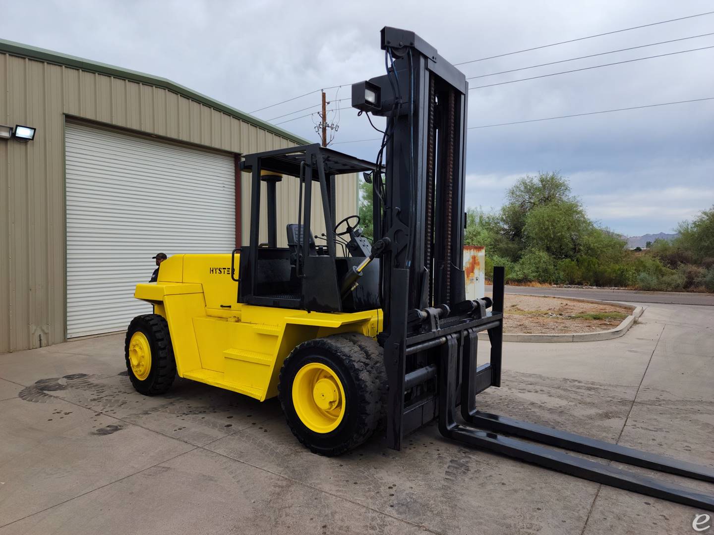
[[[339, 454], [366, 440], [383, 414], [376, 256], [388, 240], [369, 243], [358, 215], [333, 225], [330, 186], [374, 163], [308, 145], [248, 155], [242, 166], [252, 175], [251, 245], [174, 255], [161, 263], [158, 282], [136, 286], [134, 296], [153, 303], [154, 314], [129, 325], [129, 377], [149, 395], [166, 392], [176, 373], [261, 401], [279, 395], [303, 444]], [[299, 192], [287, 247], [278, 246], [276, 228], [281, 186]], [[311, 234], [314, 213], [325, 221], [323, 245]]]

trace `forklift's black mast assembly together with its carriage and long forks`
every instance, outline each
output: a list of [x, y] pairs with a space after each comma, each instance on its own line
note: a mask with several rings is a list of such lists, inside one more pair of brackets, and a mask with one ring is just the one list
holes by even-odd
[[[389, 387], [388, 446], [400, 449], [408, 432], [438, 415], [441, 434], [450, 439], [714, 510], [714, 496], [568, 451], [709, 482], [714, 482], [714, 469], [476, 409], [479, 392], [501, 386], [504, 271], [493, 270], [493, 300], [465, 299], [461, 266], [468, 83], [412, 31], [385, 27], [381, 48], [387, 73], [353, 84], [352, 103], [387, 118], [375, 172], [366, 178], [373, 183], [375, 239], [390, 243], [381, 263], [384, 325], [378, 335]], [[477, 365], [481, 331], [488, 332], [491, 360]], [[459, 404], [464, 423], [456, 422]]]

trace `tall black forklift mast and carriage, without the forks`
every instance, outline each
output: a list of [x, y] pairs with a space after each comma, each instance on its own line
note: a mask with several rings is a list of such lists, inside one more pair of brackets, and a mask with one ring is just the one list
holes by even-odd
[[[503, 277], [496, 270], [492, 312], [486, 312], [491, 300], [466, 301], [465, 76], [412, 31], [382, 29], [381, 48], [387, 73], [353, 84], [352, 102], [387, 118], [371, 180], [375, 239], [389, 243], [381, 263], [378, 340], [389, 384], [388, 445], [399, 449], [404, 435], [436, 417], [436, 367], [446, 335], [475, 343], [477, 332], [489, 330], [491, 362], [469, 370], [473, 395], [500, 384]], [[458, 384], [451, 387], [458, 394]]]

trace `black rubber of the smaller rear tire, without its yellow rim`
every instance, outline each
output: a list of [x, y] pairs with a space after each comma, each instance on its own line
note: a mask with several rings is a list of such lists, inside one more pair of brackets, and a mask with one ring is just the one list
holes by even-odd
[[[129, 342], [137, 330], [144, 332], [149, 338], [149, 345], [151, 345], [151, 372], [144, 381], [136, 378], [129, 363]], [[146, 396], [165, 394], [176, 378], [174, 347], [171, 345], [169, 324], [166, 319], [158, 314], [144, 314], [131, 320], [124, 341], [124, 359], [129, 379], [137, 392]]]

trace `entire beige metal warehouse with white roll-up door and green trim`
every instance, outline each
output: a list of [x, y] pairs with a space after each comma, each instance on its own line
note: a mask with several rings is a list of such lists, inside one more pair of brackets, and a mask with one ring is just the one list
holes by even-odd
[[[2, 40], [0, 124], [36, 128], [0, 139], [0, 352], [124, 330], [150, 311], [132, 295], [153, 255], [246, 243], [240, 154], [308, 143], [164, 78]], [[339, 220], [356, 177], [336, 187]]]

